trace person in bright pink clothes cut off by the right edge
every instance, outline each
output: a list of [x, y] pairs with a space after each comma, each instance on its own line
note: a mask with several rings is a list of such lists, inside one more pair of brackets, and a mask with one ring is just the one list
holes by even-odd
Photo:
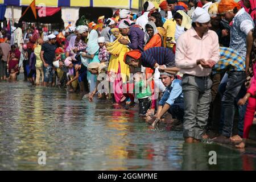
[[254, 76], [251, 78], [251, 84], [249, 89], [247, 90], [245, 97], [241, 98], [238, 101], [238, 105], [245, 105], [247, 101], [248, 105], [246, 108], [245, 122], [243, 125], [243, 141], [236, 146], [237, 148], [245, 147], [245, 140], [249, 138], [250, 127], [251, 125], [253, 125], [253, 118], [256, 110], [256, 28], [254, 28], [253, 30], [253, 39], [253, 48], [251, 49], [252, 61], [250, 64], [252, 64]]

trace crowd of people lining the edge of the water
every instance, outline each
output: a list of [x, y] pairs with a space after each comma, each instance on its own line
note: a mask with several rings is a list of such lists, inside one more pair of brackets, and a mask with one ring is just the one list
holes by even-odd
[[169, 113], [187, 143], [210, 138], [244, 148], [256, 107], [255, 9], [253, 0], [167, 0], [158, 11], [145, 2], [141, 13], [117, 10], [63, 32], [23, 34], [16, 24], [1, 31], [0, 78], [16, 80], [23, 69], [34, 86], [126, 108], [137, 102], [154, 129]]

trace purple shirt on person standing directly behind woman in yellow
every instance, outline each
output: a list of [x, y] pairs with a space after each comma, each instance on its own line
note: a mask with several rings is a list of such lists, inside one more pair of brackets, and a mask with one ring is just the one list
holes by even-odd
[[131, 48], [131, 49], [139, 49], [139, 51], [143, 52], [144, 49], [144, 35], [145, 35], [145, 32], [143, 32], [143, 30], [141, 30], [141, 28], [139, 27], [134, 27], [134, 26], [131, 26], [130, 27], [130, 31], [128, 33], [128, 37], [131, 41], [131, 43], [128, 44], [128, 46]]

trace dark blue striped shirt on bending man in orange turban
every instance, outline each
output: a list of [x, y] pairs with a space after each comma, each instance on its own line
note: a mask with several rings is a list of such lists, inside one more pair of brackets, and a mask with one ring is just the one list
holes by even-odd
[[175, 67], [175, 55], [171, 49], [164, 47], [152, 47], [141, 54], [141, 65], [154, 69], [155, 64]]

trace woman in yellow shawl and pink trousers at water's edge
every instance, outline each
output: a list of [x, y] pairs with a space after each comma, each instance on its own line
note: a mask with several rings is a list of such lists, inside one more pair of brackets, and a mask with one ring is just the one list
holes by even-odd
[[108, 67], [108, 78], [110, 85], [113, 88], [115, 102], [119, 104], [123, 97], [123, 83], [125, 83], [127, 77], [130, 76], [129, 65], [125, 64], [123, 57], [125, 56], [125, 53], [130, 50], [127, 46], [119, 43], [118, 40], [120, 38], [129, 40], [129, 38], [127, 36], [122, 36], [118, 28], [113, 28], [111, 31], [116, 40], [106, 44], [106, 48], [111, 54]]

